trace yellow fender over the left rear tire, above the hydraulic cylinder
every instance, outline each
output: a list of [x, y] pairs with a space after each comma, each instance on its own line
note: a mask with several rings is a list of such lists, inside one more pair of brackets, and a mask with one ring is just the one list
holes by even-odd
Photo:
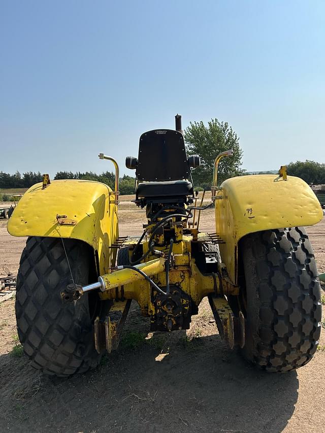
[[108, 185], [86, 180], [54, 180], [43, 188], [31, 186], [8, 222], [13, 236], [79, 239], [89, 244], [98, 272], [115, 265], [118, 215], [115, 195]]

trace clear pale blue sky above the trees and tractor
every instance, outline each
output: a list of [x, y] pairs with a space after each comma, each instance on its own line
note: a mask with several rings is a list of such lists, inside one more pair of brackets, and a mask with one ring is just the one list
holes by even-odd
[[248, 171], [325, 162], [324, 1], [0, 1], [0, 170], [112, 170], [212, 117]]

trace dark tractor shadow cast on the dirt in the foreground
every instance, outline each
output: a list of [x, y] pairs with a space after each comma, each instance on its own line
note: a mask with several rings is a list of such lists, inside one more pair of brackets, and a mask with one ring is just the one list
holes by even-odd
[[[148, 321], [131, 314], [125, 335], [136, 331], [148, 332]], [[293, 415], [296, 372], [258, 371], [218, 335], [149, 337], [63, 379], [3, 355], [0, 431], [280, 432]]]

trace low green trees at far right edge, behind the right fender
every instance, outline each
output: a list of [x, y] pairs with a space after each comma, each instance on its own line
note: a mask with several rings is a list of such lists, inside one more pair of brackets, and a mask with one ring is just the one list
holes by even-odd
[[325, 164], [315, 161], [297, 161], [290, 162], [286, 166], [287, 174], [297, 176], [307, 182], [309, 185], [325, 183]]

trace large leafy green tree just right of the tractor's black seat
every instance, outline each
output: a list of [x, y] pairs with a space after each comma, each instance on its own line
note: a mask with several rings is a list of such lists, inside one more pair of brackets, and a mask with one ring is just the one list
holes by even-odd
[[227, 122], [211, 119], [208, 126], [205, 126], [203, 121], [190, 122], [185, 128], [184, 138], [188, 154], [197, 153], [201, 158], [201, 166], [192, 170], [194, 185], [211, 187], [215, 157], [229, 149], [233, 149], [233, 156], [221, 159], [218, 184], [243, 174], [243, 151], [239, 146], [239, 137]]

